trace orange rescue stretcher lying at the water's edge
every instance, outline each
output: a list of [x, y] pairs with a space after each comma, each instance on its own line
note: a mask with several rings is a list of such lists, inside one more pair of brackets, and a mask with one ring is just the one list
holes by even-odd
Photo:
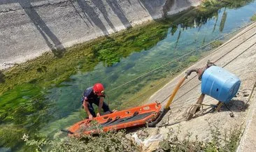
[[146, 123], [155, 121], [159, 116], [161, 105], [157, 102], [119, 112], [95, 117], [90, 121], [85, 119], [75, 123], [67, 130], [69, 136], [97, 134], [111, 130], [120, 130], [133, 126], [144, 126]]

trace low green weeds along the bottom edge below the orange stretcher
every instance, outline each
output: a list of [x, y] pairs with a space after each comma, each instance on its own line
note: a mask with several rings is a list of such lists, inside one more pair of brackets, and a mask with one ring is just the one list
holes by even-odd
[[86, 135], [62, 140], [29, 140], [23, 135], [23, 141], [29, 146], [37, 147], [38, 151], [137, 151], [138, 146], [125, 135], [125, 130], [119, 132], [102, 132], [98, 136]]

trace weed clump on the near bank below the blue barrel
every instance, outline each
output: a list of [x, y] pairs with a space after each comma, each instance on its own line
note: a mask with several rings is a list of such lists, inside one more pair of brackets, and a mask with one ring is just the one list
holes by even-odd
[[235, 127], [221, 133], [221, 128], [218, 126], [210, 126], [211, 138], [210, 142], [192, 140], [192, 133], [187, 132], [183, 139], [178, 139], [180, 129], [176, 133], [169, 132], [167, 139], [159, 143], [159, 148], [155, 151], [236, 151], [239, 146], [241, 137], [241, 127]]

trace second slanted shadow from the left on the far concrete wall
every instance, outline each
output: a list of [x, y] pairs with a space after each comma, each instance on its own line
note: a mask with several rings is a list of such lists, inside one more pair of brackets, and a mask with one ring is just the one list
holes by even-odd
[[[104, 33], [104, 35], [108, 35], [108, 30], [106, 29], [103, 22], [98, 17], [98, 14], [94, 11], [94, 8], [92, 8], [85, 0], [77, 0], [79, 7], [83, 10], [83, 13], [87, 20], [92, 24], [98, 26], [99, 29]], [[92, 21], [92, 22], [91, 22]], [[93, 24], [92, 24], [93, 26]]]

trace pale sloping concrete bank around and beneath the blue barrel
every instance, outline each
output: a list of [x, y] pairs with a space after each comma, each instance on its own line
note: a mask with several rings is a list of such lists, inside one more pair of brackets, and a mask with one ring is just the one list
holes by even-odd
[[[211, 54], [206, 56], [201, 61], [198, 61], [190, 68], [202, 68], [207, 61], [213, 61], [217, 66], [225, 68], [231, 73], [234, 73], [241, 79], [241, 86], [237, 95], [227, 104], [223, 105], [220, 112], [215, 112], [212, 107], [204, 106], [190, 120], [186, 121], [187, 112], [197, 102], [201, 94], [201, 82], [196, 73], [192, 73], [180, 90], [171, 104], [171, 110], [164, 116], [162, 121], [157, 124], [156, 128], [148, 128], [151, 134], [162, 134], [166, 137], [167, 132], [177, 132], [180, 130], [179, 137], [184, 138], [188, 133], [192, 133], [191, 139], [197, 137], [199, 140], [208, 141], [211, 139], [211, 128], [219, 128], [221, 134], [224, 135], [232, 128], [242, 127], [246, 130], [244, 133], [238, 151], [248, 151], [253, 149], [243, 149], [244, 144], [253, 144], [256, 139], [255, 126], [251, 121], [256, 121], [255, 116], [255, 82], [256, 82], [256, 23], [251, 24], [241, 33], [238, 33], [234, 38], [227, 43], [213, 50]], [[187, 68], [187, 69], [190, 69]], [[186, 70], [185, 70], [186, 71]], [[155, 100], [162, 101], [165, 105], [169, 100], [169, 96], [173, 88], [178, 83], [179, 79], [185, 75], [185, 71], [166, 84], [162, 89], [151, 96], [149, 102]], [[204, 104], [216, 105], [218, 100], [206, 96]], [[229, 116], [231, 111], [234, 117]], [[254, 139], [253, 139], [254, 138]], [[246, 141], [246, 142], [245, 142]], [[255, 146], [255, 144], [253, 144]]]

